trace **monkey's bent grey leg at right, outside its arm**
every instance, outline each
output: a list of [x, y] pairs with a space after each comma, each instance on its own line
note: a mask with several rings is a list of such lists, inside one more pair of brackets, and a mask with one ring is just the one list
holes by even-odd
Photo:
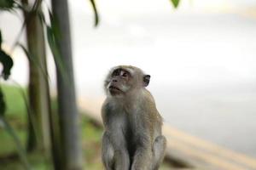
[[153, 146], [153, 170], [158, 170], [160, 167], [160, 163], [163, 161], [165, 156], [165, 150], [166, 150], [166, 137], [164, 136], [158, 136], [154, 140], [154, 146]]

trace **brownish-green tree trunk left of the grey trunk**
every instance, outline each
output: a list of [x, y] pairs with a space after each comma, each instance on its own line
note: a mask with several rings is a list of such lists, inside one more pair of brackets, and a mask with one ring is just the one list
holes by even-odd
[[[22, 0], [27, 4], [27, 0]], [[40, 7], [38, 10], [41, 10]], [[29, 56], [29, 135], [28, 150], [44, 150], [49, 156], [49, 84], [45, 54], [44, 26], [37, 14], [24, 14], [26, 17], [26, 39]]]

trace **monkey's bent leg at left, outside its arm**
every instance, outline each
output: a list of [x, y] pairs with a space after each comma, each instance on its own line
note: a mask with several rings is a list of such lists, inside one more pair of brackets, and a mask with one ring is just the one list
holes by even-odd
[[113, 169], [113, 145], [109, 140], [108, 133], [104, 133], [102, 137], [102, 162], [106, 170]]

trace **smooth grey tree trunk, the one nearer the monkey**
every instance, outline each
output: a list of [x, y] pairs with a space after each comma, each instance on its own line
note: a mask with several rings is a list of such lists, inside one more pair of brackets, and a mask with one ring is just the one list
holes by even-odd
[[73, 78], [73, 60], [67, 0], [52, 0], [54, 20], [60, 36], [57, 46], [64, 66], [57, 69], [58, 109], [61, 126], [63, 170], [82, 169], [82, 150], [79, 137], [79, 115]]

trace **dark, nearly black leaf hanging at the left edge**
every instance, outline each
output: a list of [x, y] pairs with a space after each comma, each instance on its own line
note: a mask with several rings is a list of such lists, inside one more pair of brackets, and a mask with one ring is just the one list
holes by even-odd
[[3, 64], [3, 71], [1, 73], [1, 75], [3, 75], [4, 80], [7, 80], [10, 75], [10, 70], [14, 65], [14, 61], [2, 49], [0, 49], [0, 63]]

